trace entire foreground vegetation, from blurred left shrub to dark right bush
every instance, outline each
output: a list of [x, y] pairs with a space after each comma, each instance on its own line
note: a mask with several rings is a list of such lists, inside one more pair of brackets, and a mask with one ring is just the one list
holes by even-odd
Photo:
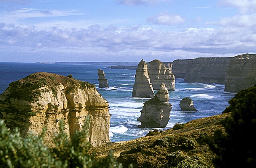
[[88, 142], [89, 117], [71, 139], [58, 121], [54, 146], [44, 143], [46, 130], [23, 137], [18, 128], [11, 131], [0, 121], [0, 168], [255, 167], [256, 85], [240, 91], [229, 103], [221, 115], [96, 147]]

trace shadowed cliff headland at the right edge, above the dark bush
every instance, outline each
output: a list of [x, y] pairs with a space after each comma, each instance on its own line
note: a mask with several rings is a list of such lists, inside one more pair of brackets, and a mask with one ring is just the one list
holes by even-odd
[[237, 55], [230, 59], [224, 91], [238, 93], [256, 84], [256, 54]]

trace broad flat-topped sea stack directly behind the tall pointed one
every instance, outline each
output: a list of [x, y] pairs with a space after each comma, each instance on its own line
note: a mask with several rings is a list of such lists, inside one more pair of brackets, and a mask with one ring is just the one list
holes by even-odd
[[175, 90], [175, 77], [171, 72], [172, 64], [168, 66], [170, 68], [166, 68], [165, 63], [160, 60], [153, 60], [148, 63], [149, 79], [154, 90], [159, 90], [161, 83], [165, 83], [168, 90]]

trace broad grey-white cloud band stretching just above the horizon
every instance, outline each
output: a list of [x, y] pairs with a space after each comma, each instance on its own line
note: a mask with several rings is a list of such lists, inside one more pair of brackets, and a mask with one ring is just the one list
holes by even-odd
[[[121, 28], [91, 25], [84, 29], [53, 27], [36, 30], [34, 26], [0, 24], [0, 35], [2, 55], [26, 53], [29, 57], [48, 53], [62, 56], [52, 59], [72, 57], [72, 61], [83, 57], [92, 61], [92, 56], [95, 56], [95, 60], [106, 58], [104, 61], [117, 61], [123, 57], [127, 59], [119, 61], [140, 61], [146, 56], [171, 59], [174, 56], [196, 58], [256, 52], [256, 31], [250, 27], [159, 31], [139, 26]], [[109, 55], [112, 60], [107, 60], [110, 59]]]

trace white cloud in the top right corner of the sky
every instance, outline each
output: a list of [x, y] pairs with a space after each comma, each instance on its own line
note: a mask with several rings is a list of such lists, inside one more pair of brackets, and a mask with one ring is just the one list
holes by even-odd
[[217, 5], [235, 7], [243, 14], [256, 12], [256, 0], [219, 0]]

